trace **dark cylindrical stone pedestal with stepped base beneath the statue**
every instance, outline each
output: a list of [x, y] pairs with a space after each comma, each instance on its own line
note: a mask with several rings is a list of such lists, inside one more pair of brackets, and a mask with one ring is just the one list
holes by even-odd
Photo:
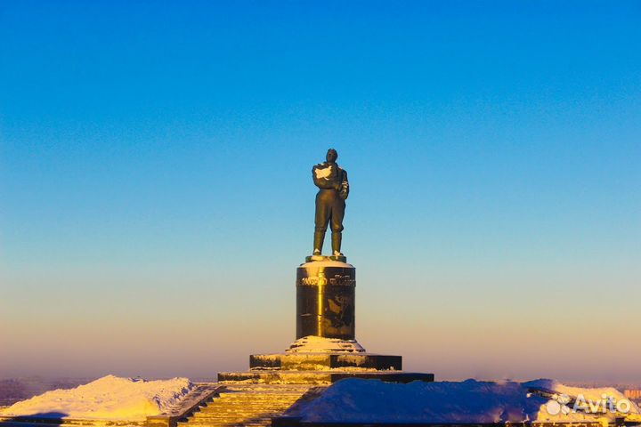
[[308, 256], [305, 261], [296, 269], [296, 342], [283, 353], [251, 355], [248, 372], [219, 373], [218, 381], [434, 381], [434, 374], [402, 372], [401, 356], [367, 353], [356, 342], [356, 269], [344, 256]]

